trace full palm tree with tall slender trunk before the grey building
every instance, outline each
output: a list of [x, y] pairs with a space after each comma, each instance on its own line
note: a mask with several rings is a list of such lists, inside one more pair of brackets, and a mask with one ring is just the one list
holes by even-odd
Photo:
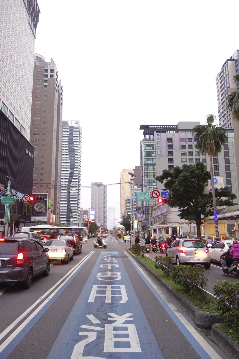
[[211, 172], [211, 184], [212, 184], [212, 201], [214, 212], [214, 224], [216, 237], [219, 236], [218, 227], [218, 210], [216, 209], [216, 196], [213, 180], [213, 164], [212, 157], [221, 152], [221, 145], [225, 143], [227, 139], [226, 130], [217, 125], [213, 125], [215, 115], [207, 115], [207, 125], [197, 125], [193, 127], [194, 139], [197, 141], [195, 148], [201, 153], [206, 152], [210, 157], [210, 172]]

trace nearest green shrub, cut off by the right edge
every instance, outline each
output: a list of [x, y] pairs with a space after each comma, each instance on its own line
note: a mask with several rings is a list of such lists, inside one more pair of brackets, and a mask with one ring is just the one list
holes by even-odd
[[213, 288], [214, 294], [218, 297], [216, 309], [224, 323], [221, 325], [231, 339], [239, 342], [239, 283], [219, 280]]

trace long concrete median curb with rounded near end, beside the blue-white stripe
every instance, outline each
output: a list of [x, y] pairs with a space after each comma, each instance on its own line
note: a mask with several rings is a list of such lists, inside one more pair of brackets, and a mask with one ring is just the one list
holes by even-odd
[[177, 293], [168, 283], [155, 274], [147, 265], [135, 257], [128, 249], [127, 253], [134, 258], [134, 260], [152, 277], [156, 283], [172, 298], [180, 308], [195, 322], [196, 325], [203, 328], [211, 328], [214, 323], [220, 323], [217, 313], [205, 313], [194, 307], [181, 294]]

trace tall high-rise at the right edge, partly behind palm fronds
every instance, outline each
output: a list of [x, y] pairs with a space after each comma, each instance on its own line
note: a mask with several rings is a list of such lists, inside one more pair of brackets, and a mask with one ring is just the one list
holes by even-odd
[[[234, 128], [235, 139], [239, 137], [239, 123], [234, 120], [230, 109], [227, 106], [227, 98], [232, 92], [238, 90], [234, 83], [233, 76], [239, 73], [239, 50], [236, 50], [230, 59], [227, 59], [216, 77], [216, 88], [218, 95], [219, 125], [225, 129]], [[239, 163], [239, 141], [235, 141], [236, 163]], [[228, 167], [228, 174], [230, 167]], [[236, 167], [239, 180], [239, 166]], [[230, 176], [227, 176], [227, 182]], [[230, 181], [229, 181], [230, 182]]]

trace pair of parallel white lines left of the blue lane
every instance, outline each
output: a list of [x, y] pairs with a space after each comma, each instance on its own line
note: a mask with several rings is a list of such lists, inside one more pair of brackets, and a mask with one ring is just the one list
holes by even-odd
[[[89, 256], [91, 256], [91, 254], [93, 253], [94, 251], [91, 251], [91, 253], [89, 253], [88, 255], [85, 256], [85, 258], [83, 258], [80, 262], [77, 263], [77, 265], [75, 265], [75, 267], [73, 267], [66, 275], [64, 275], [60, 280], [58, 280], [58, 282], [56, 284], [54, 284], [46, 293], [44, 293], [35, 303], [32, 304], [32, 306], [30, 306], [24, 313], [22, 313], [13, 323], [11, 323], [3, 332], [0, 333], [0, 340], [6, 335], [8, 334], [25, 316], [27, 316], [28, 313], [30, 313], [30, 311], [32, 311], [33, 308], [35, 308], [41, 301], [43, 298], [47, 297], [47, 295], [49, 293], [52, 292], [52, 290], [54, 288], [56, 288], [56, 286], [61, 283], [64, 279], [66, 279], [66, 281], [70, 278], [70, 276], [78, 269], [77, 267], [78, 266], [81, 266], [81, 264], [83, 264], [83, 261], [85, 261]], [[74, 272], [72, 272], [74, 269], [76, 269]], [[72, 272], [72, 274], [70, 275], [70, 273]], [[66, 281], [64, 281], [62, 283], [62, 285], [64, 283], [66, 283]], [[57, 290], [55, 292], [53, 292], [53, 295], [62, 287], [59, 286], [57, 288]], [[42, 303], [42, 305], [40, 307], [38, 307], [36, 309], [35, 312], [33, 312], [28, 318], [27, 320], [25, 320], [25, 322], [27, 321], [27, 323], [34, 317], [35, 314], [37, 314], [39, 312], [39, 310], [44, 307], [44, 305], [48, 302], [49, 299], [51, 299], [53, 297], [53, 295], [51, 295], [49, 298], [47, 298], [47, 300], [45, 300], [45, 302]], [[44, 305], [43, 305], [44, 304]], [[34, 314], [35, 313], [35, 314]], [[29, 319], [30, 318], [30, 319]], [[9, 344], [9, 342], [18, 334], [18, 332], [25, 326], [27, 325], [27, 323], [23, 322], [21, 324], [20, 327], [18, 327], [14, 332], [13, 334], [11, 334], [11, 336], [8, 337], [8, 339], [6, 339], [3, 344], [0, 346], [0, 352], [6, 347], [6, 345]], [[24, 325], [25, 323], [25, 325]], [[21, 328], [19, 330], [19, 328]], [[17, 332], [18, 331], [18, 332]], [[16, 333], [16, 334], [14, 334]], [[12, 339], [10, 340], [10, 337], [12, 337]], [[6, 344], [6, 345], [5, 345]]]

